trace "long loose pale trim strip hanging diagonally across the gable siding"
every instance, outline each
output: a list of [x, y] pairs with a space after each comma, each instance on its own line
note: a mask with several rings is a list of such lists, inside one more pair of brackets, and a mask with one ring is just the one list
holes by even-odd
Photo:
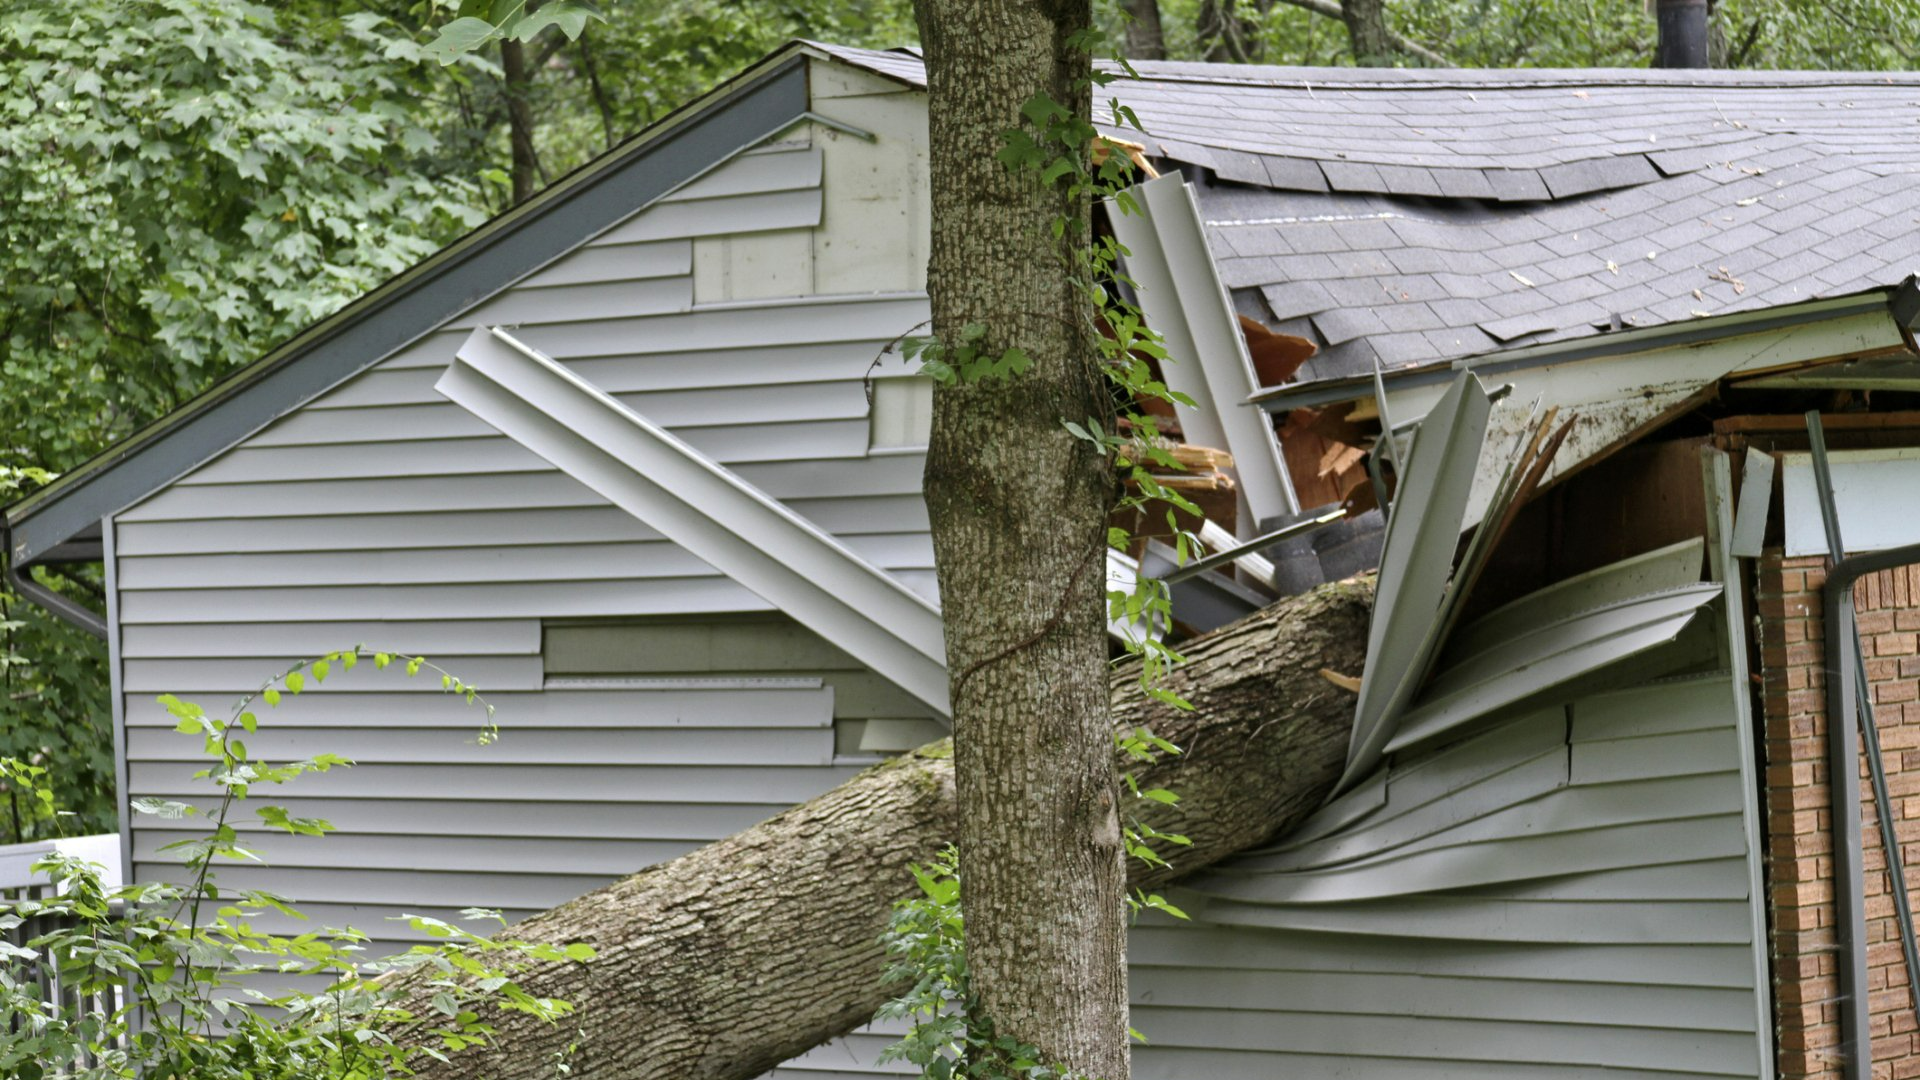
[[476, 329], [434, 388], [952, 715], [939, 607], [666, 429], [499, 329]]

